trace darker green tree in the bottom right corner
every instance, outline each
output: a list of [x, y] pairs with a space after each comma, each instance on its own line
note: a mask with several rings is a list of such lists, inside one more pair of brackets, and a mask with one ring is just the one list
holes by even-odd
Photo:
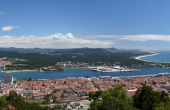
[[169, 96], [162, 91], [154, 92], [150, 86], [143, 84], [143, 87], [138, 89], [133, 97], [134, 106], [141, 110], [154, 110], [168, 103]]

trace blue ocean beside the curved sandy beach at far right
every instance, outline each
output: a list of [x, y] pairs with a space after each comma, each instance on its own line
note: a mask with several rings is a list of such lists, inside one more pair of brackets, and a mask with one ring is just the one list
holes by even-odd
[[152, 56], [142, 56], [139, 60], [144, 60], [148, 62], [163, 62], [163, 63], [170, 63], [170, 52], [157, 52]]

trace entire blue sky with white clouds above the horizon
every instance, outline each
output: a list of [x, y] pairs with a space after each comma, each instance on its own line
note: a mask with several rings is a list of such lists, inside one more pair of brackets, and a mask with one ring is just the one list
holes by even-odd
[[0, 0], [0, 47], [170, 49], [170, 0]]

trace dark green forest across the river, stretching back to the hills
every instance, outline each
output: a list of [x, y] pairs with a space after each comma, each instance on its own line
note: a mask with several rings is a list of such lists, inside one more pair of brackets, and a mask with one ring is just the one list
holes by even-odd
[[20, 52], [0, 52], [0, 58], [18, 58], [26, 61], [15, 61], [12, 65], [7, 65], [8, 70], [39, 70], [42, 67], [54, 66], [57, 62], [71, 61], [72, 63], [87, 63], [88, 65], [109, 65], [118, 63], [121, 66], [143, 65], [144, 61], [136, 60], [132, 57], [146, 55], [147, 52], [110, 52], [102, 49], [92, 49], [86, 51], [67, 51], [57, 53], [20, 53]]

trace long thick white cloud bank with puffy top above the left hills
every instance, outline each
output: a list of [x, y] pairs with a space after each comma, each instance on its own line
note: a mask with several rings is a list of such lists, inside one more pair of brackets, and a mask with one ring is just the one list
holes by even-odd
[[66, 35], [53, 34], [50, 36], [0, 36], [1, 47], [17, 48], [108, 48], [113, 42], [90, 40], [86, 38], [74, 37], [71, 33]]

